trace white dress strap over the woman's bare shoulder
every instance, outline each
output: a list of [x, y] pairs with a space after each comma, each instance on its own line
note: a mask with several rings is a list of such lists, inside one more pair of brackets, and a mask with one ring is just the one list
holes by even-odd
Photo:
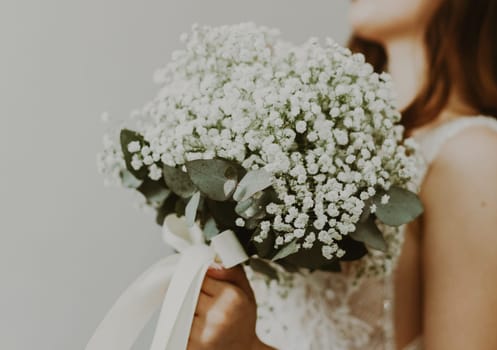
[[461, 117], [419, 135], [417, 139], [425, 161], [428, 164], [433, 162], [447, 141], [471, 127], [487, 127], [497, 131], [497, 119], [486, 116]]

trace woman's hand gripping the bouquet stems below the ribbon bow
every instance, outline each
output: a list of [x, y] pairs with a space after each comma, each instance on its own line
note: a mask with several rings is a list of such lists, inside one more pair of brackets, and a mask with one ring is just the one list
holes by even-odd
[[200, 292], [188, 350], [271, 349], [256, 336], [254, 293], [241, 266], [210, 268]]

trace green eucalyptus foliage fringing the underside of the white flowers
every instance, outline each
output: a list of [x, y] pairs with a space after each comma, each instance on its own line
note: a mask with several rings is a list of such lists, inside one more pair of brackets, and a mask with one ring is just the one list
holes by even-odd
[[[122, 134], [126, 144], [131, 141], [144, 142], [135, 132], [126, 130]], [[270, 231], [263, 242], [253, 239], [260, 233], [260, 221], [268, 216], [266, 206], [271, 202], [279, 202], [271, 186], [271, 174], [262, 169], [249, 171], [238, 182], [244, 170], [231, 161], [195, 160], [185, 166], [187, 172], [164, 166], [163, 180], [160, 181], [153, 181], [148, 176], [137, 178], [127, 169], [121, 172], [121, 178], [125, 186], [136, 188], [150, 205], [157, 208], [157, 223], [160, 225], [166, 215], [176, 213], [185, 216], [189, 226], [196, 219], [200, 220], [207, 240], [222, 230], [235, 230], [241, 242], [244, 241], [247, 252], [259, 257], [250, 259], [251, 267], [272, 279], [278, 278], [277, 270], [264, 259], [275, 261], [291, 272], [300, 268], [339, 272], [340, 261], [358, 260], [367, 254], [368, 248], [385, 252], [387, 244], [375, 220], [398, 226], [413, 220], [423, 211], [414, 193], [392, 187], [388, 192], [378, 193], [371, 198], [365, 205], [356, 231], [337, 241], [339, 247], [346, 251], [344, 257], [328, 260], [321, 251], [323, 244], [315, 242], [312, 248], [303, 249], [298, 240], [275, 252], [274, 232]], [[390, 200], [387, 204], [381, 204], [385, 194], [390, 196]], [[375, 214], [370, 210], [372, 204], [376, 205]], [[245, 219], [244, 228], [235, 225], [238, 217]], [[252, 238], [248, 241], [250, 235]]]

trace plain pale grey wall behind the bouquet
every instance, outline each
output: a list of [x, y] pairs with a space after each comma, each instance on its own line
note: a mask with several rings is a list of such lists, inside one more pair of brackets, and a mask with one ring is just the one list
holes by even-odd
[[120, 292], [168, 253], [134, 197], [103, 187], [95, 154], [101, 112], [123, 119], [149, 100], [180, 33], [253, 20], [297, 42], [344, 42], [347, 6], [0, 0], [0, 349], [83, 349]]

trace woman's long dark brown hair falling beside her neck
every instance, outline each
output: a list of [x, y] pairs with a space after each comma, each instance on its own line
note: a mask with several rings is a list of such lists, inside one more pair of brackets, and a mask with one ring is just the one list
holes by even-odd
[[[403, 111], [407, 130], [434, 120], [454, 88], [479, 113], [497, 118], [497, 0], [445, 0], [428, 24], [425, 45], [428, 77]], [[353, 36], [349, 47], [376, 71], [386, 69], [380, 44]]]

